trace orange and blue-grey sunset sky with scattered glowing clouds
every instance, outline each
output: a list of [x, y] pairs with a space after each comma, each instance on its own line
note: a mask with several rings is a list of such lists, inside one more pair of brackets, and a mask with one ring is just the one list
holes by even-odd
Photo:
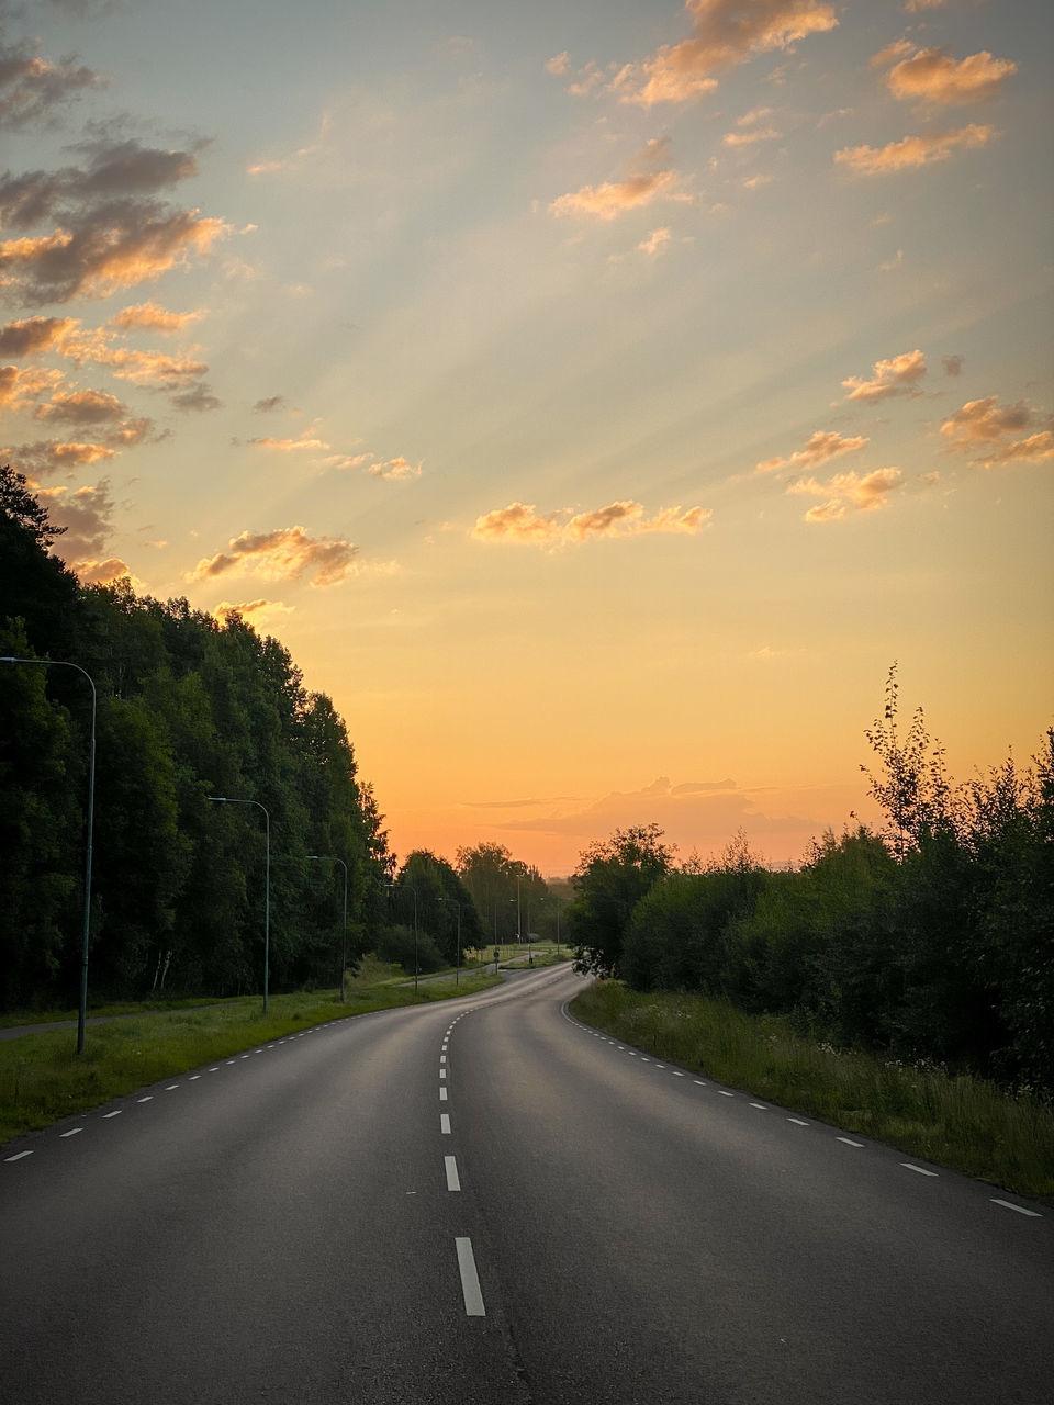
[[1054, 721], [1043, 0], [0, 0], [0, 450], [395, 851], [769, 863]]

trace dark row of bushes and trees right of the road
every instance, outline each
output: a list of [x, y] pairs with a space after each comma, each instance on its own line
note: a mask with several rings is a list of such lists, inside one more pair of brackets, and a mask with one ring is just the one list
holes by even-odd
[[743, 835], [677, 867], [658, 826], [582, 856], [568, 934], [582, 969], [790, 1016], [843, 1047], [1054, 1093], [1054, 731], [953, 787], [922, 712], [866, 733], [881, 830], [856, 823], [770, 873]]

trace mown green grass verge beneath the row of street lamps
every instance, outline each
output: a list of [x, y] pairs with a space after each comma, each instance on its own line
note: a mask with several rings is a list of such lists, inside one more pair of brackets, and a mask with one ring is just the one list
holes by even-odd
[[[0, 1144], [48, 1127], [59, 1117], [86, 1111], [148, 1083], [312, 1024], [370, 1010], [448, 1000], [500, 984], [493, 975], [462, 972], [460, 985], [453, 978], [433, 981], [422, 985], [415, 999], [412, 988], [367, 984], [377, 974], [372, 969], [360, 972], [350, 981], [344, 1005], [333, 991], [273, 995], [267, 1019], [260, 998], [249, 996], [89, 1026], [83, 1054], [74, 1052], [69, 1030], [0, 1043]], [[391, 972], [384, 968], [384, 974]]]

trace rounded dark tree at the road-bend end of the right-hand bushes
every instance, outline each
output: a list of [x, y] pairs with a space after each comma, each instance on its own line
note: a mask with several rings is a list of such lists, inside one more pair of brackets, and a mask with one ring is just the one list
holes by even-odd
[[566, 912], [566, 940], [575, 946], [575, 969], [616, 975], [623, 937], [637, 903], [669, 873], [673, 847], [658, 825], [617, 829], [583, 850], [572, 875], [575, 899]]

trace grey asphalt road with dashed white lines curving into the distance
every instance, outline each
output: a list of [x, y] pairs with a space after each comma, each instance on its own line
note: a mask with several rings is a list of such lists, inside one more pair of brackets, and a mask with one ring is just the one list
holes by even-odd
[[580, 986], [322, 1026], [0, 1149], [4, 1405], [1050, 1399], [1051, 1213], [589, 1031]]

